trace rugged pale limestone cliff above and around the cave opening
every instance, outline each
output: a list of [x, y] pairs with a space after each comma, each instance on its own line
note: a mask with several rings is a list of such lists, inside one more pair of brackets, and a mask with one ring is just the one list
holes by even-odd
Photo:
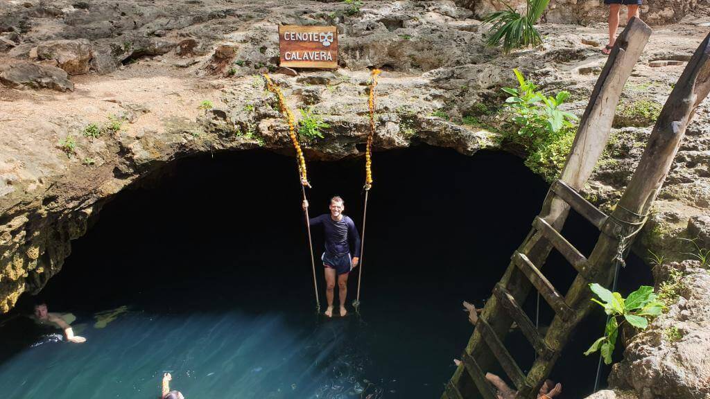
[[[484, 147], [524, 154], [498, 139], [509, 118], [500, 88], [515, 84], [512, 68], [547, 92], [572, 92], [565, 109], [581, 116], [606, 60], [606, 26], [545, 23], [545, 45], [503, 56], [483, 45], [486, 28], [475, 17], [485, 4], [366, 1], [356, 11], [316, 1], [4, 2], [0, 312], [59, 272], [70, 241], [103, 204], [176, 158], [258, 147], [290, 153], [261, 72], [272, 73], [297, 115], [310, 106], [330, 125], [324, 138], [303, 143], [307, 159], [362, 155], [370, 67], [384, 70], [378, 151], [429, 143], [466, 155]], [[584, 4], [567, 8], [581, 16]], [[689, 12], [695, 3], [673, 4]], [[550, 7], [547, 21], [555, 10], [577, 21], [562, 5]], [[621, 195], [655, 113], [706, 34], [707, 9], [697, 7], [657, 28], [627, 84], [613, 139], [585, 187], [601, 207]], [[337, 26], [340, 68], [278, 70], [278, 24]], [[651, 248], [682, 258], [679, 235], [710, 248], [709, 108], [706, 101], [689, 126], [637, 241], [642, 256]]]

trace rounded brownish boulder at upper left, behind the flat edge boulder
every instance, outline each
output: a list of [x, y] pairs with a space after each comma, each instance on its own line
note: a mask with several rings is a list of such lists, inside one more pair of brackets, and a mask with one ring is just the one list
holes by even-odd
[[89, 72], [92, 45], [87, 39], [54, 40], [38, 45], [37, 56], [40, 60], [55, 60], [69, 75], [82, 75]]

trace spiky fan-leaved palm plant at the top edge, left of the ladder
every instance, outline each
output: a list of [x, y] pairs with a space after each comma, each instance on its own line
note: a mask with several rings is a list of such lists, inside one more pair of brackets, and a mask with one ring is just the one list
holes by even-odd
[[550, 0], [528, 0], [525, 15], [520, 15], [509, 5], [508, 9], [488, 14], [484, 25], [490, 23], [486, 45], [491, 47], [503, 41], [503, 53], [510, 53], [515, 48], [542, 44], [540, 33], [535, 29], [535, 23], [547, 9]]

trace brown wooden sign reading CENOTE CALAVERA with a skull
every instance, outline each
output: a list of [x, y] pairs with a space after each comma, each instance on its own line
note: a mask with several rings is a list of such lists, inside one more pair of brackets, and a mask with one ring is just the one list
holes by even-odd
[[338, 30], [335, 26], [279, 26], [278, 48], [282, 67], [338, 67]]

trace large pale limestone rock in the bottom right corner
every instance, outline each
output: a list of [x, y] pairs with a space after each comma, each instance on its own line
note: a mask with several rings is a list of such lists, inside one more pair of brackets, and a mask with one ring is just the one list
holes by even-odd
[[706, 399], [710, 395], [710, 273], [697, 261], [660, 266], [684, 273], [679, 298], [626, 347], [609, 383], [641, 399]]

